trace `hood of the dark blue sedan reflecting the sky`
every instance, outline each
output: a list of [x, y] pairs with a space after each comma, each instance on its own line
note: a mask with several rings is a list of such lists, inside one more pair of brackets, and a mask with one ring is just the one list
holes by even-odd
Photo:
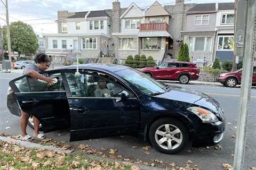
[[209, 108], [215, 113], [218, 113], [220, 108], [218, 101], [214, 100], [212, 97], [199, 91], [191, 91], [189, 89], [180, 88], [177, 86], [171, 86], [171, 90], [165, 92], [164, 94], [158, 95], [157, 97], [196, 104]]

